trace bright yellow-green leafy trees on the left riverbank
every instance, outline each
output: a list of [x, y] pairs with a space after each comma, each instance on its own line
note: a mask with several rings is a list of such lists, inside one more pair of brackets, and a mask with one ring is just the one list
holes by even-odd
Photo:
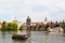
[[5, 22], [2, 23], [2, 30], [17, 30], [17, 24], [16, 23], [9, 23]]

